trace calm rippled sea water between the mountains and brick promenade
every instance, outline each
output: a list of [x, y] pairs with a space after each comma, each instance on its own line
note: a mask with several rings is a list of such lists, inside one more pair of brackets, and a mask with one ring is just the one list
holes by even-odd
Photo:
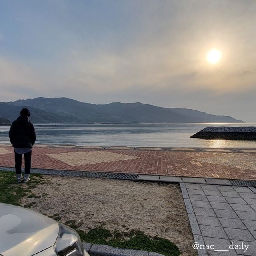
[[[256, 126], [240, 124], [38, 124], [38, 144], [159, 147], [255, 147], [255, 141], [190, 138], [206, 126]], [[0, 126], [0, 143], [9, 142], [8, 126]]]

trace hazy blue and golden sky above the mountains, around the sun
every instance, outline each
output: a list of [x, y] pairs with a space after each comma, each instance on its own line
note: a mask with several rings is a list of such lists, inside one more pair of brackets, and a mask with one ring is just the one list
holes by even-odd
[[[0, 0], [0, 101], [142, 102], [256, 122], [255, 0]], [[207, 61], [212, 49], [221, 53]]]

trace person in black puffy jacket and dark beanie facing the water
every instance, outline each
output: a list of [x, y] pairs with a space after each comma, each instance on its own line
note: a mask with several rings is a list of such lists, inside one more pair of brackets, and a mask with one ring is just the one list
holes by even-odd
[[19, 183], [23, 180], [21, 173], [22, 154], [24, 154], [25, 163], [24, 182], [30, 180], [31, 154], [36, 141], [36, 131], [29, 120], [29, 116], [29, 110], [23, 108], [20, 111], [20, 116], [12, 123], [9, 130], [10, 142], [14, 147], [15, 172]]

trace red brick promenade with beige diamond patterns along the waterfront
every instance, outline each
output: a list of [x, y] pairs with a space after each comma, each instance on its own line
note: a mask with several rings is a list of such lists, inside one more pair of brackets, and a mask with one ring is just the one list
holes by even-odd
[[[11, 146], [0, 145], [0, 166], [14, 166], [13, 150]], [[32, 168], [256, 180], [256, 152], [37, 146], [32, 151]]]

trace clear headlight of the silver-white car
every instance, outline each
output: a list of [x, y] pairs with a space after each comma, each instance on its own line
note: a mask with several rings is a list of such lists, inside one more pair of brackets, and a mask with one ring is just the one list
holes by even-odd
[[72, 228], [59, 224], [60, 232], [54, 244], [58, 256], [84, 256], [84, 246], [80, 236]]

